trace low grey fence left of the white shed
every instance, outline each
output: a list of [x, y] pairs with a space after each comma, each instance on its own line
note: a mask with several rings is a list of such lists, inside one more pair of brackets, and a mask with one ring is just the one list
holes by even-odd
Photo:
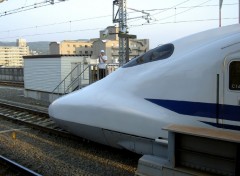
[[23, 68], [0, 68], [0, 81], [23, 83]]

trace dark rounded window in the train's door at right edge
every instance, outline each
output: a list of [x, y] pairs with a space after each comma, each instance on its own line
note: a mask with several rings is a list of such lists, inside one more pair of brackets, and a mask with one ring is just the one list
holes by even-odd
[[240, 61], [233, 61], [229, 65], [229, 89], [240, 90]]

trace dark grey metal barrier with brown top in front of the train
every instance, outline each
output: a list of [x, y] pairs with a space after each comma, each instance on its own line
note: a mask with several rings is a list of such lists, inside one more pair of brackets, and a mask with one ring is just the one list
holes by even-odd
[[239, 176], [240, 134], [192, 126], [171, 125], [168, 157], [144, 155], [136, 176]]

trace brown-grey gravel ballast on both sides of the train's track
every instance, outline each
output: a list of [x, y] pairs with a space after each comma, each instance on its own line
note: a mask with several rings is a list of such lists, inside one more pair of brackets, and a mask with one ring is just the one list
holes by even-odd
[[[49, 103], [24, 98], [23, 89], [0, 87], [0, 99], [47, 108]], [[16, 139], [12, 132], [16, 131]], [[48, 134], [0, 118], [0, 155], [42, 175], [134, 175], [134, 153], [86, 140]]]

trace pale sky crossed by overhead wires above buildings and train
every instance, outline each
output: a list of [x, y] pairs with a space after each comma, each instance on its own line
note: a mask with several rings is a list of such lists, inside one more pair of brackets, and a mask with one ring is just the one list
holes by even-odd
[[[238, 23], [239, 0], [224, 0], [222, 26]], [[99, 37], [112, 22], [113, 0], [68, 0], [2, 16], [46, 0], [7, 0], [0, 3], [0, 41], [62, 41]], [[55, 0], [55, 2], [59, 2]], [[47, 3], [49, 4], [49, 3]], [[127, 0], [129, 33], [148, 38], [150, 48], [219, 26], [219, 0]], [[132, 9], [135, 9], [132, 10]], [[144, 10], [150, 13], [149, 23]]]

